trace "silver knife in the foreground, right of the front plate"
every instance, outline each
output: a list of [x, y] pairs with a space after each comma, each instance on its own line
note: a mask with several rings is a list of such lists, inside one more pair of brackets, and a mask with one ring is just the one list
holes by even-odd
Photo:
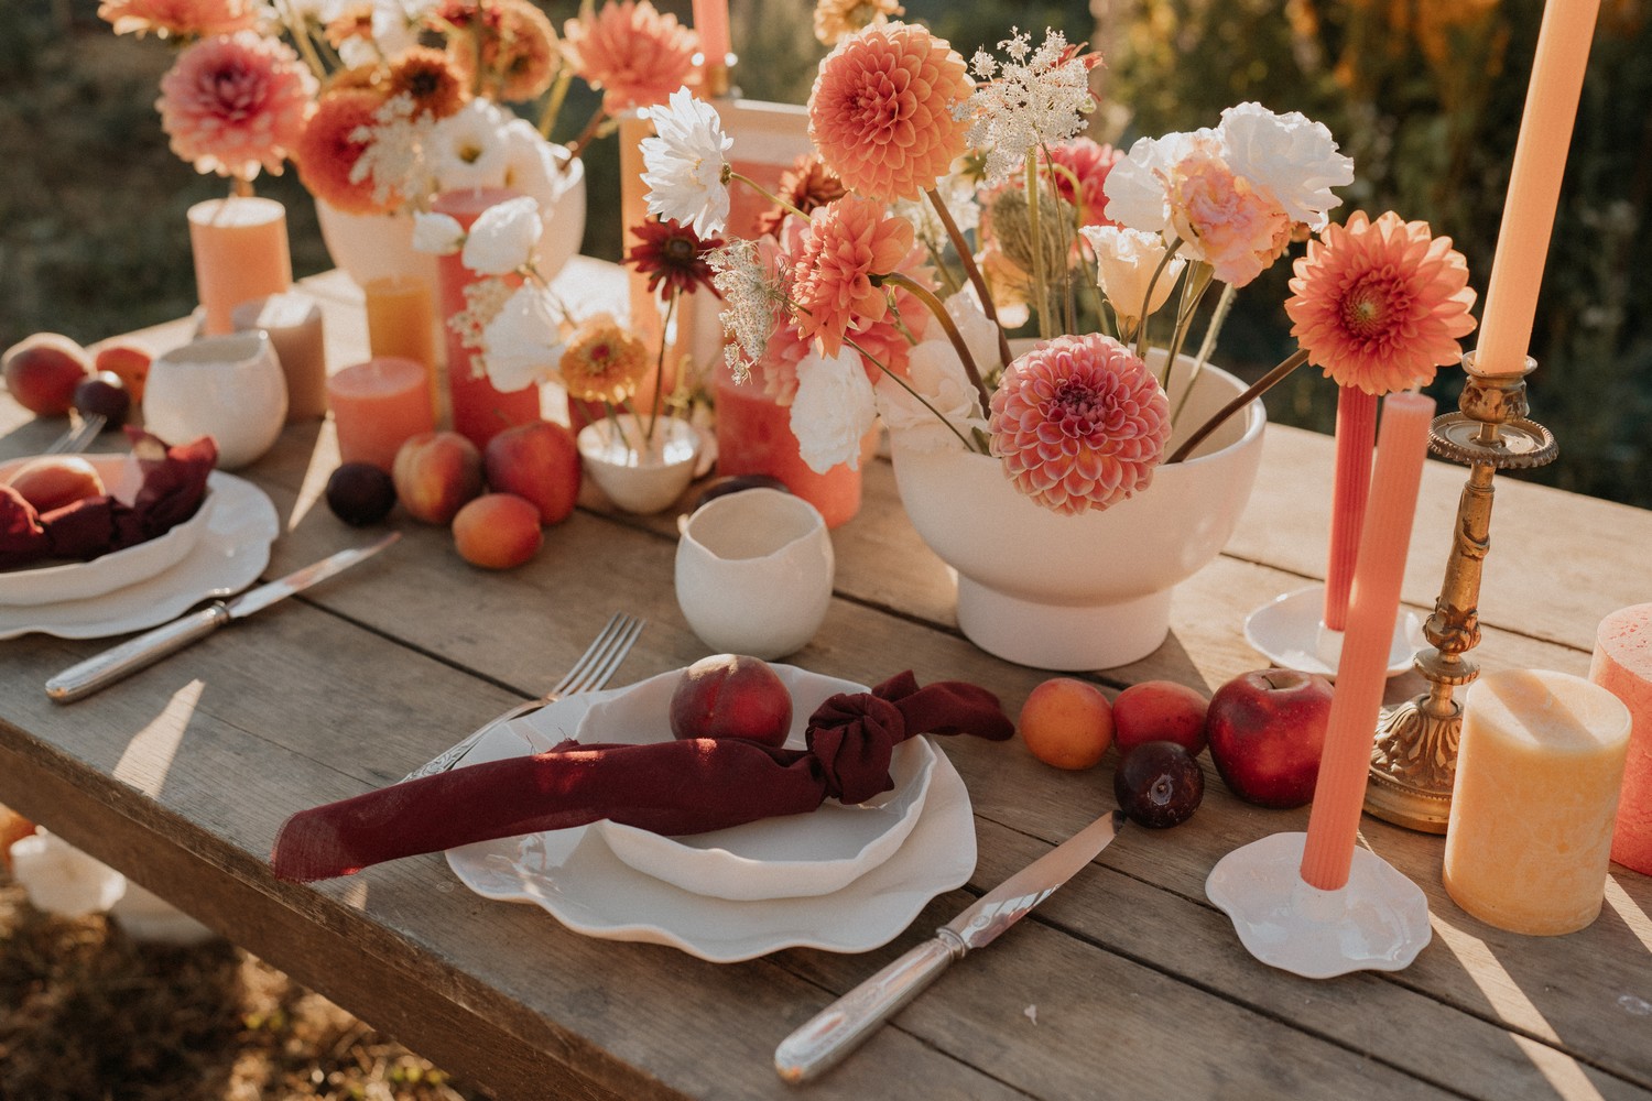
[[838, 1065], [902, 1005], [940, 977], [955, 959], [986, 947], [1090, 863], [1118, 835], [1122, 810], [1108, 810], [1082, 830], [981, 895], [935, 936], [823, 1009], [775, 1048], [775, 1070], [790, 1083], [808, 1081]]

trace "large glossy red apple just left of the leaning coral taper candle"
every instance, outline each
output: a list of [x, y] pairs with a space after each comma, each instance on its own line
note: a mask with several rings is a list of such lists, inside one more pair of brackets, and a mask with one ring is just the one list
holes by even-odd
[[1204, 733], [1229, 791], [1289, 810], [1313, 799], [1332, 685], [1295, 669], [1241, 673], [1216, 690]]

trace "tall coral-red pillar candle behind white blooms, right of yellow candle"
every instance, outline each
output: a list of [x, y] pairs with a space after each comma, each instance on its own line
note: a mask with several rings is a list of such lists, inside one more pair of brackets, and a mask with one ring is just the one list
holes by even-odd
[[[438, 215], [449, 215], [469, 229], [484, 210], [509, 198], [515, 198], [515, 193], [502, 188], [464, 188], [438, 195], [433, 210]], [[481, 276], [466, 267], [461, 256], [453, 253], [436, 258], [441, 315], [448, 319], [448, 399], [453, 409], [453, 429], [477, 447], [484, 447], [502, 429], [539, 419], [539, 386], [501, 393], [487, 381], [477, 350], [464, 347], [453, 319], [466, 312], [464, 291]]]

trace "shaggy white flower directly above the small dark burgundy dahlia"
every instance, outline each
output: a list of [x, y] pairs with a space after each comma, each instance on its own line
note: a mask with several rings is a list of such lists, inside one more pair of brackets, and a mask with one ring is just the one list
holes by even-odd
[[724, 154], [733, 139], [724, 134], [717, 109], [679, 87], [648, 116], [656, 130], [656, 137], [643, 139], [648, 213], [692, 224], [702, 238], [722, 233], [729, 221]]

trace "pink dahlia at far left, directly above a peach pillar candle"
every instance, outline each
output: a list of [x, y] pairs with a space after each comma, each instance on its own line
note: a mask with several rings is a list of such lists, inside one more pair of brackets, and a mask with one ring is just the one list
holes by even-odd
[[160, 127], [197, 172], [281, 173], [299, 144], [316, 79], [289, 46], [254, 31], [206, 38], [160, 78]]

